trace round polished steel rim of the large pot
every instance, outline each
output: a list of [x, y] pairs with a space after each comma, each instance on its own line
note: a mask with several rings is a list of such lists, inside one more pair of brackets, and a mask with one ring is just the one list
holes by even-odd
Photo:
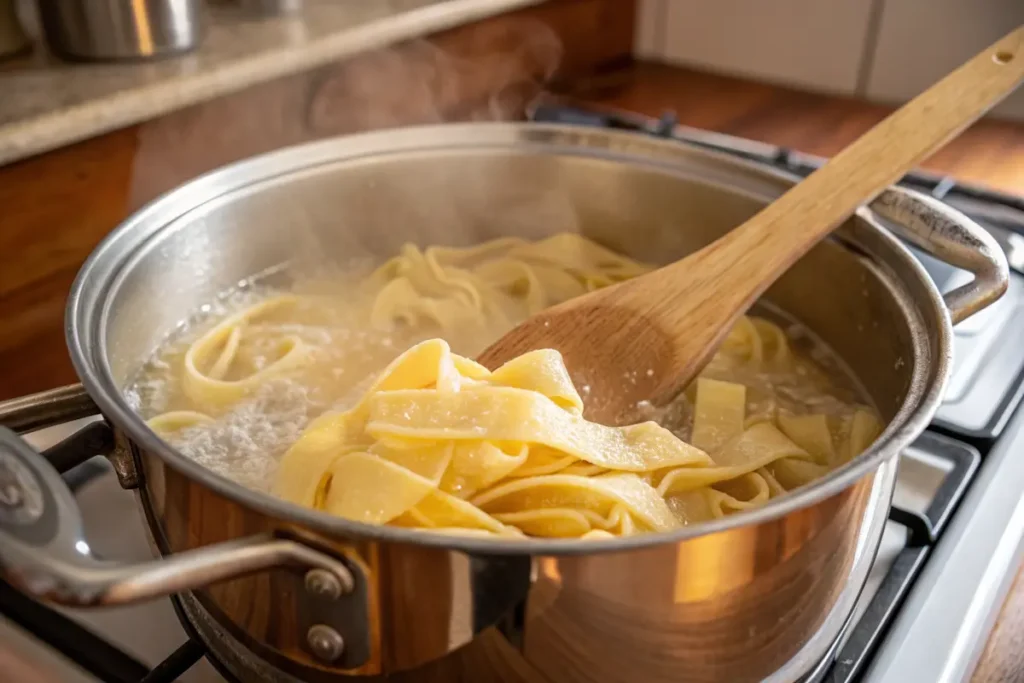
[[[588, 146], [590, 140], [601, 138], [600, 146]], [[609, 138], [611, 144], [609, 144]], [[554, 144], [552, 142], [555, 142]], [[330, 538], [353, 541], [409, 543], [425, 547], [459, 550], [477, 555], [569, 555], [616, 552], [679, 543], [702, 536], [727, 531], [740, 526], [757, 525], [810, 507], [849, 488], [879, 465], [896, 457], [928, 426], [938, 409], [949, 375], [952, 326], [941, 294], [924, 266], [894, 236], [888, 233], [873, 214], [861, 207], [857, 216], [882, 233], [893, 256], [901, 259], [908, 273], [919, 279], [928, 293], [928, 301], [939, 311], [937, 330], [939, 352], [926, 359], [934, 366], [929, 382], [929, 362], [918, 362], [913, 369], [907, 398], [870, 449], [824, 477], [769, 503], [674, 531], [642, 533], [602, 540], [599, 543], [580, 540], [546, 539], [479, 539], [424, 532], [418, 529], [368, 524], [351, 521], [326, 512], [311, 510], [244, 486], [207, 469], [160, 439], [128, 404], [112, 374], [106, 348], [108, 323], [111, 315], [110, 293], [124, 275], [124, 266], [135, 249], [177, 219], [218, 197], [244, 189], [248, 185], [309, 170], [315, 166], [352, 161], [366, 156], [426, 152], [443, 146], [480, 148], [481, 146], [529, 145], [543, 146], [548, 153], [594, 156], [629, 162], [671, 172], [673, 153], [685, 150], [703, 162], [739, 169], [782, 186], [798, 180], [795, 176], [766, 168], [755, 162], [736, 159], [719, 152], [683, 147], [675, 140], [639, 136], [628, 131], [581, 129], [580, 127], [536, 123], [469, 123], [409, 127], [398, 130], [372, 131], [338, 136], [284, 147], [245, 159], [210, 171], [157, 198], [129, 216], [93, 250], [76, 276], [66, 309], [66, 341], [72, 362], [82, 384], [99, 407], [103, 416], [117, 428], [147, 452], [156, 454], [167, 465], [215, 493], [240, 505], [269, 517], [299, 524]], [[602, 150], [602, 147], [604, 147]], [[656, 151], [656, 158], [644, 158], [638, 152]], [[675, 170], [678, 172], [678, 165]], [[197, 200], [199, 200], [197, 202]], [[136, 238], [125, 245], [129, 238]], [[141, 238], [141, 239], [138, 239]], [[93, 289], [97, 292], [90, 294]], [[99, 308], [98, 317], [96, 308]], [[915, 317], [915, 316], [911, 316]], [[920, 321], [909, 321], [911, 327]], [[912, 335], [912, 337], [916, 337]], [[913, 401], [913, 397], [918, 400]], [[140, 484], [145, 486], [144, 480]]]

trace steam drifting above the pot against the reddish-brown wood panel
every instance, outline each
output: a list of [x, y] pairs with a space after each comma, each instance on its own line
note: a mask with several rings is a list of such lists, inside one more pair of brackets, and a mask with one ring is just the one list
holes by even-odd
[[507, 121], [543, 89], [561, 44], [534, 19], [483, 24], [269, 81], [146, 122], [136, 132], [134, 210], [211, 169], [331, 135], [446, 121]]

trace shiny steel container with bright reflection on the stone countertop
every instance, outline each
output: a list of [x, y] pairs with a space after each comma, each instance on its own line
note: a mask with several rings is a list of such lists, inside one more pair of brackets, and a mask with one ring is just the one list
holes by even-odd
[[184, 52], [202, 37], [201, 0], [42, 0], [46, 41], [72, 59], [140, 59]]

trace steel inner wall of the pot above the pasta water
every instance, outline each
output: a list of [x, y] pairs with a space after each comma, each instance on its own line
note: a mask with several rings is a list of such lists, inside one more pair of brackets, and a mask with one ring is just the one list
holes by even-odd
[[[328, 140], [228, 167], [141, 212], [83, 271], [85, 312], [71, 327], [94, 366], [106, 365], [124, 387], [191, 312], [257, 273], [380, 262], [407, 242], [468, 246], [562, 231], [666, 263], [735, 227], [790, 182], [606, 131], [477, 125]], [[840, 354], [887, 421], [909, 415], [941, 379], [933, 359], [942, 357], [945, 318], [935, 288], [866, 212], [765, 298]]]

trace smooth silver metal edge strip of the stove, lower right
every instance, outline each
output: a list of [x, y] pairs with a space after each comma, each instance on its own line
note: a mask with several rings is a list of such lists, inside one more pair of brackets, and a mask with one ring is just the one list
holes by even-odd
[[1024, 413], [985, 456], [867, 672], [959, 683], [978, 664], [1024, 551]]

